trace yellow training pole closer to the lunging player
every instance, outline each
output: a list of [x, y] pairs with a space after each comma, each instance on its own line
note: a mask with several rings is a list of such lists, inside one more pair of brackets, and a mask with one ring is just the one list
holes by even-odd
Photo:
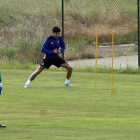
[[98, 52], [98, 26], [96, 31], [95, 91], [96, 91], [96, 81], [97, 81], [97, 52]]

